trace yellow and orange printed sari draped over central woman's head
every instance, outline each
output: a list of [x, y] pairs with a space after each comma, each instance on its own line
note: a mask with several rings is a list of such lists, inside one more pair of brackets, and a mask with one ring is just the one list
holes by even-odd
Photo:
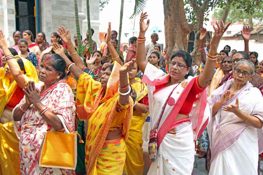
[[[101, 87], [100, 82], [93, 80], [91, 75], [87, 73], [80, 75], [78, 80], [76, 97], [77, 115], [80, 120], [88, 119], [85, 161], [86, 173], [88, 175], [96, 175], [100, 171], [107, 171], [106, 174], [116, 174], [116, 172], [114, 172], [116, 167], [112, 168], [110, 161], [98, 159], [98, 156], [101, 154], [107, 157], [112, 156], [112, 154], [108, 154], [109, 150], [105, 152], [103, 145], [113, 123], [119, 124], [117, 121], [119, 121], [120, 124], [123, 123], [122, 135], [124, 141], [126, 141], [129, 135], [133, 101], [130, 97], [127, 105], [124, 106], [119, 103], [118, 87], [120, 67], [121, 65], [119, 65], [119, 63], [114, 62], [106, 90]], [[124, 151], [125, 150], [120, 147], [118, 153], [116, 153], [116, 155], [120, 156], [118, 157], [119, 164], [117, 166], [118, 169], [121, 170], [121, 174], [125, 162], [125, 154], [124, 156], [121, 156], [121, 154]], [[101, 161], [103, 161], [104, 166], [97, 166], [102, 164]]]

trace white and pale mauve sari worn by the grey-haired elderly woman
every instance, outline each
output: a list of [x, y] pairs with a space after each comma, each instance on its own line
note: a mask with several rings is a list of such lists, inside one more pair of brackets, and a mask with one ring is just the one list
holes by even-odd
[[[213, 105], [233, 82], [234, 79], [227, 81], [208, 98], [211, 113]], [[257, 88], [247, 82], [223, 106], [234, 105], [236, 98], [239, 99], [239, 109], [263, 121], [263, 98]], [[223, 111], [222, 108], [213, 116], [207, 128], [211, 149], [210, 175], [257, 174], [258, 155], [263, 151], [262, 129], [248, 126], [234, 113]]]

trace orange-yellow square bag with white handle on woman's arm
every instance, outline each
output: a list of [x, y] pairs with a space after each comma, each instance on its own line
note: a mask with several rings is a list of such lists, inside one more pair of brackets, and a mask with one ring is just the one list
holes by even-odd
[[[75, 170], [77, 165], [77, 135], [72, 132], [62, 116], [57, 116], [65, 133], [47, 131], [40, 150], [39, 166]], [[84, 143], [79, 136], [79, 142]]]

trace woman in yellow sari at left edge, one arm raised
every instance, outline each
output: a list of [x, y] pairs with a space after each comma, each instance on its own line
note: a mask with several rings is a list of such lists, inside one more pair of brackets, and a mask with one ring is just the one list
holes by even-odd
[[24, 96], [22, 88], [25, 81], [38, 82], [38, 77], [29, 60], [19, 56], [15, 59], [9, 57], [11, 52], [4, 38], [0, 39], [0, 47], [8, 63], [4, 70], [0, 70], [0, 175], [17, 175], [20, 174], [19, 139], [11, 121], [12, 109]]

